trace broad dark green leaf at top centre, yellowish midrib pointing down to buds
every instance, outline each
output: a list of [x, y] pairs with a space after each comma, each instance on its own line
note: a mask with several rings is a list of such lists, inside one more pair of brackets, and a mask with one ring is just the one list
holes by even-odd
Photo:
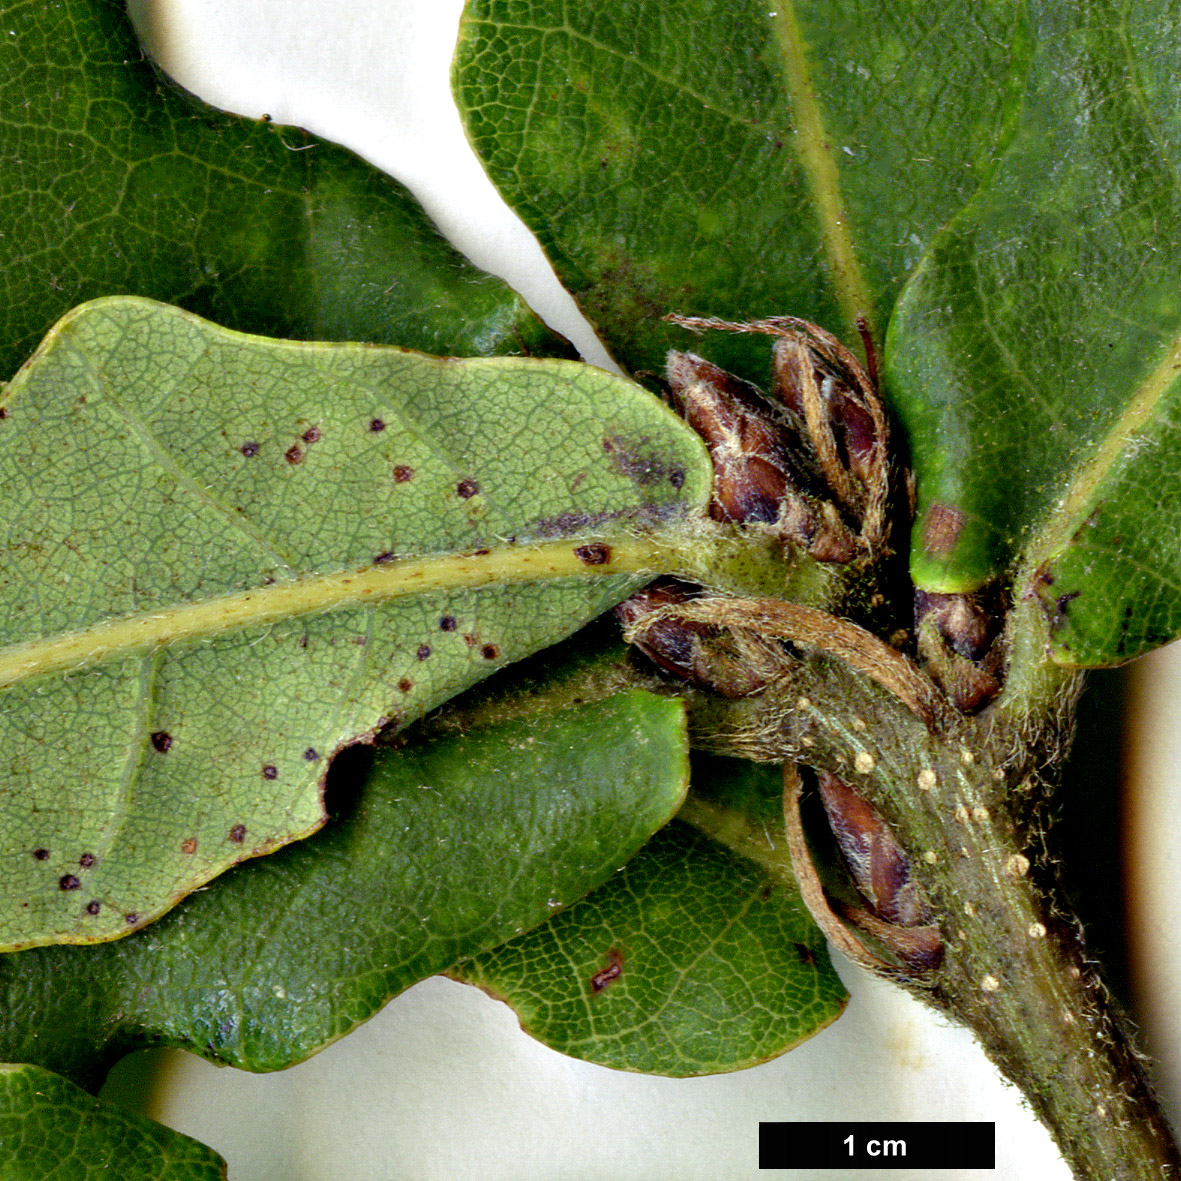
[[[476, 151], [608, 348], [659, 371], [670, 311], [885, 329], [987, 176], [1023, 6], [475, 0], [455, 87]], [[711, 340], [758, 378], [765, 342]]]

